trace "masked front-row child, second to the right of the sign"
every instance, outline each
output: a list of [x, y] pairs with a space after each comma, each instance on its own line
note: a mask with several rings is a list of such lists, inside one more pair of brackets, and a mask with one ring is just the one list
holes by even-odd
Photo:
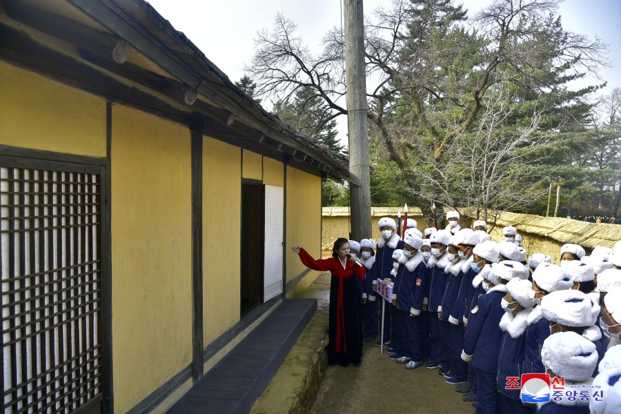
[[440, 367], [440, 375], [449, 372], [449, 360], [442, 350], [442, 337], [440, 336], [440, 313], [442, 313], [442, 295], [446, 287], [446, 273], [444, 268], [449, 264], [446, 248], [449, 246], [451, 233], [446, 230], [437, 230], [429, 237], [431, 242], [431, 258], [427, 262], [428, 289], [424, 304], [428, 304], [429, 330], [431, 331], [430, 352], [431, 360], [425, 365], [433, 369]]

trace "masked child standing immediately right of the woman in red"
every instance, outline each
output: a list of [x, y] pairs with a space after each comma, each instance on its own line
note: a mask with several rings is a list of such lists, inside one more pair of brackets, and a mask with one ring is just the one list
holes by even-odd
[[[365, 270], [364, 274], [364, 293], [362, 294], [362, 321], [364, 322], [365, 342], [374, 342], [377, 338], [377, 293], [373, 291], [373, 265], [375, 264], [375, 241], [373, 239], [360, 240], [360, 250]], [[366, 295], [366, 302], [364, 298]]]

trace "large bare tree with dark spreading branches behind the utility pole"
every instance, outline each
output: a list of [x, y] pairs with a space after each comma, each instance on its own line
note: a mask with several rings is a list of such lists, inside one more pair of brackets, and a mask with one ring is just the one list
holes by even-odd
[[[571, 103], [564, 83], [607, 65], [600, 40], [564, 30], [555, 16], [557, 0], [495, 0], [466, 26], [465, 10], [451, 0], [393, 0], [366, 22], [366, 64], [375, 87], [368, 88], [368, 117], [386, 154], [414, 194], [414, 204], [431, 219], [431, 203], [442, 193], [427, 187], [420, 170], [442, 182], [451, 157], [446, 152], [485, 111], [485, 97], [502, 85], [531, 101], [553, 95], [539, 113]], [[313, 56], [295, 37], [293, 22], [278, 15], [271, 32], [260, 32], [257, 52], [246, 70], [257, 95], [288, 97], [313, 88], [333, 113], [346, 114], [343, 39], [338, 29], [324, 37]], [[422, 157], [421, 155], [424, 155]], [[417, 162], [413, 162], [417, 160]], [[425, 189], [425, 191], [423, 191]]]

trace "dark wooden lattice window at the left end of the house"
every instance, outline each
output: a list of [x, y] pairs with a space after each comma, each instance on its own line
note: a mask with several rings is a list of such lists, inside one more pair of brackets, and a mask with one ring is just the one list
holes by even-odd
[[0, 168], [3, 412], [75, 412], [102, 393], [101, 175], [7, 165]]

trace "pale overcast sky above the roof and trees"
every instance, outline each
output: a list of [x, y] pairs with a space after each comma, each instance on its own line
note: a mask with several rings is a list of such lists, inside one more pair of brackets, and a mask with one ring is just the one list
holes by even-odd
[[[184, 32], [231, 81], [244, 75], [244, 64], [253, 56], [257, 31], [271, 28], [278, 12], [297, 23], [297, 34], [315, 52], [321, 50], [324, 33], [333, 26], [341, 26], [340, 0], [147, 1], [175, 29]], [[462, 3], [473, 14], [490, 1]], [[370, 14], [377, 7], [388, 8], [390, 4], [391, 0], [364, 0], [364, 12]], [[591, 38], [597, 36], [609, 44], [613, 67], [600, 71], [600, 77], [608, 81], [604, 92], [621, 86], [621, 0], [565, 0], [560, 14], [564, 28]], [[597, 81], [593, 79], [591, 83]], [[339, 137], [344, 137], [346, 121], [338, 120]]]

